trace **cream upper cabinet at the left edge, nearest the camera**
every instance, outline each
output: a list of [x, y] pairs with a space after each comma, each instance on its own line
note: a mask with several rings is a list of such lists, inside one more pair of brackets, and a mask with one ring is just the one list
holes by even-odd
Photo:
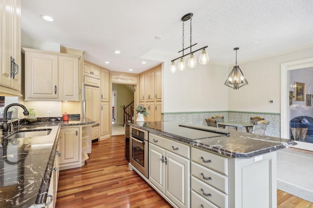
[[21, 95], [21, 0], [0, 1], [0, 95]]

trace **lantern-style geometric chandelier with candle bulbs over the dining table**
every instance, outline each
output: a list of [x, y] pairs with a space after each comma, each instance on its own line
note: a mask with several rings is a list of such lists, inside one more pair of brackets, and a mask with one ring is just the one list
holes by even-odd
[[236, 65], [233, 67], [233, 70], [231, 70], [224, 85], [231, 87], [234, 90], [238, 90], [239, 88], [246, 86], [248, 81], [246, 80], [246, 77], [240, 67], [237, 65], [237, 50], [239, 50], [239, 48], [234, 48], [234, 50], [236, 51]]

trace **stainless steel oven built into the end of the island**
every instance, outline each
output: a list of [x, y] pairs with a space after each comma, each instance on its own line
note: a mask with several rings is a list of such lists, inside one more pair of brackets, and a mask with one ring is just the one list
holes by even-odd
[[130, 127], [130, 163], [148, 178], [148, 131]]

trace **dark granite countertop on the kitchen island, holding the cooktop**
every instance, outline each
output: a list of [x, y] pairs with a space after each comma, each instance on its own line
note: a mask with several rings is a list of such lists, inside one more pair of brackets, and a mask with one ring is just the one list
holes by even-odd
[[[229, 136], [180, 127], [179, 125], [229, 133]], [[170, 121], [134, 122], [130, 123], [130, 126], [236, 158], [250, 158], [296, 145], [294, 141], [289, 139]]]

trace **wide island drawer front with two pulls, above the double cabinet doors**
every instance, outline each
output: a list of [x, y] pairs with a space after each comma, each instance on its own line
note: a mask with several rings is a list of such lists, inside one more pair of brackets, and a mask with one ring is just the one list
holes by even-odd
[[179, 154], [180, 156], [190, 158], [190, 147], [188, 145], [181, 144], [179, 142], [158, 136], [156, 134], [149, 133], [149, 142], [162, 147], [168, 151]]

